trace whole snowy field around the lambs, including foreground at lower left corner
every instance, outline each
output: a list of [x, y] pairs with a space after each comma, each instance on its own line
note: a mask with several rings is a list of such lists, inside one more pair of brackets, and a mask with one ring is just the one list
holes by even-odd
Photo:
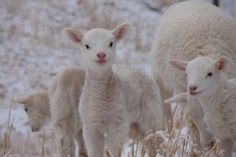
[[[231, 4], [225, 0], [224, 8], [235, 13]], [[78, 46], [68, 40], [63, 32], [65, 27], [86, 31], [129, 22], [129, 34], [117, 45], [118, 64], [129, 63], [150, 73], [153, 32], [166, 8], [152, 10], [143, 0], [1, 0], [0, 156], [4, 152], [12, 157], [54, 156], [50, 127], [32, 133], [22, 106], [13, 104], [10, 113], [9, 110], [12, 99], [47, 89], [58, 70], [68, 65], [81, 65]], [[187, 136], [189, 130], [178, 126], [178, 120], [173, 124], [178, 133], [178, 139], [173, 141], [181, 143], [181, 151], [193, 151]], [[167, 129], [159, 134], [166, 138], [168, 133]], [[190, 142], [182, 145], [185, 140]], [[136, 146], [132, 141], [128, 143], [123, 156], [131, 156], [132, 147]], [[166, 150], [171, 148], [167, 145]], [[181, 156], [178, 151], [172, 151], [170, 156]]]

